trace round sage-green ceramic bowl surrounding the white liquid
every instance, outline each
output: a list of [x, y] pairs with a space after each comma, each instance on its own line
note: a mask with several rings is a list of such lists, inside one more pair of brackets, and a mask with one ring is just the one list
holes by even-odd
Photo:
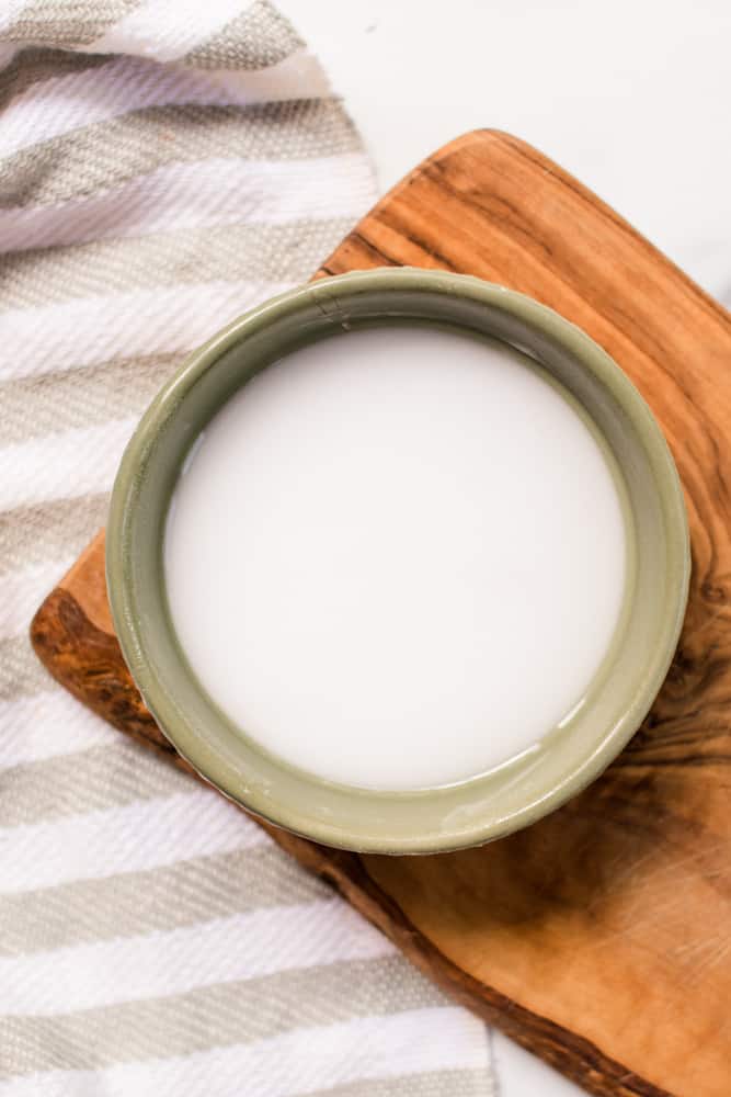
[[[538, 750], [487, 774], [416, 792], [322, 781], [251, 740], [196, 681], [167, 606], [162, 541], [191, 443], [221, 405], [287, 351], [393, 320], [448, 323], [502, 339], [540, 362], [614, 457], [633, 545], [631, 583], [609, 654], [583, 705]], [[106, 539], [114, 624], [146, 703], [198, 772], [244, 807], [317, 841], [389, 853], [434, 852], [499, 838], [594, 780], [647, 714], [685, 611], [689, 551], [683, 493], [648, 406], [586, 335], [521, 294], [478, 279], [388, 269], [293, 290], [235, 320], [192, 354], [142, 418], [114, 486]], [[560, 643], [560, 636], [557, 636]]]

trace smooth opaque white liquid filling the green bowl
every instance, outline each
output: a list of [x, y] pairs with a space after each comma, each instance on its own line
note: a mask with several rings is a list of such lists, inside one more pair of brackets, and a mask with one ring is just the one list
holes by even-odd
[[176, 487], [180, 642], [245, 733], [378, 789], [469, 778], [580, 701], [625, 584], [619, 499], [528, 360], [448, 330], [335, 336], [265, 370]]

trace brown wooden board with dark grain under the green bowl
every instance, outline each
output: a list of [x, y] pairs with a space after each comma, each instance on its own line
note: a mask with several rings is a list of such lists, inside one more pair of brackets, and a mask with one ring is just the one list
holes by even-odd
[[[731, 319], [574, 179], [487, 131], [421, 163], [318, 273], [388, 264], [528, 293], [627, 371], [685, 486], [687, 620], [629, 747], [527, 830], [465, 852], [388, 858], [267, 829], [465, 1005], [592, 1093], [728, 1097]], [[100, 534], [41, 607], [35, 649], [79, 700], [185, 766], [122, 660], [103, 552]]]

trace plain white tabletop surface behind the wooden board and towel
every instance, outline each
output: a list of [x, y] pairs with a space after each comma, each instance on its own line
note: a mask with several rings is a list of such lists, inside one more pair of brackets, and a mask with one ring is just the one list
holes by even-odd
[[[731, 305], [728, 0], [277, 0], [381, 190], [459, 133], [507, 129]], [[580, 1093], [493, 1033], [500, 1097]]]

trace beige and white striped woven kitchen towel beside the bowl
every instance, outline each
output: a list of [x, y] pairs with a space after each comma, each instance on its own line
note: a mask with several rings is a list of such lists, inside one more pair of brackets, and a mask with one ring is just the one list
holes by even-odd
[[4, 0], [0, 111], [0, 1094], [483, 1097], [483, 1026], [27, 641], [175, 363], [370, 204], [358, 137], [262, 0]]

